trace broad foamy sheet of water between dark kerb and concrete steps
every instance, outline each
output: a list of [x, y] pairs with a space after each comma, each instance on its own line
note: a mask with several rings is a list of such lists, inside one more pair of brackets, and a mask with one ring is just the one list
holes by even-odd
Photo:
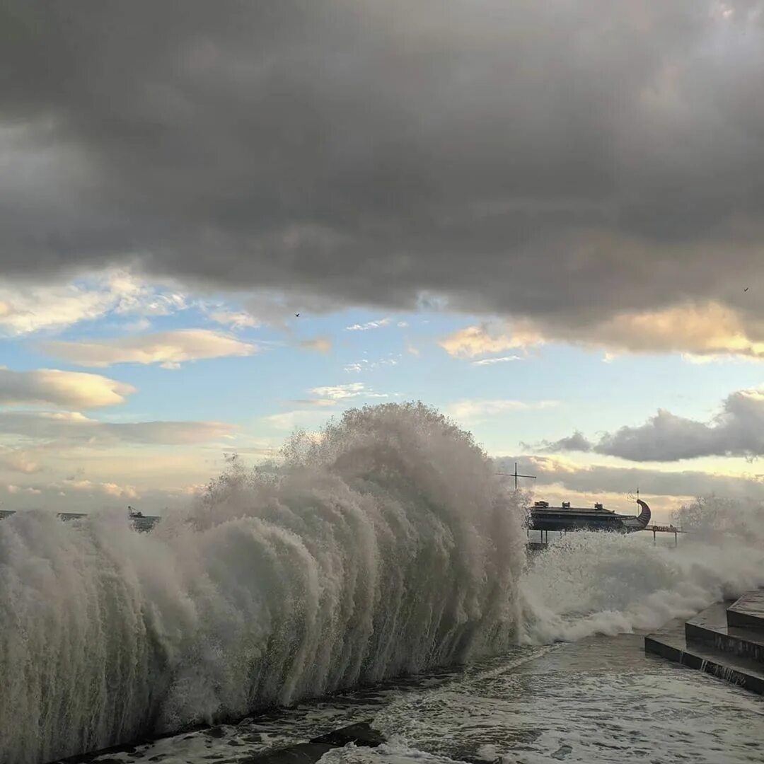
[[385, 746], [337, 749], [322, 764], [764, 760], [764, 699], [645, 656], [636, 635], [558, 645], [397, 698], [374, 726]]

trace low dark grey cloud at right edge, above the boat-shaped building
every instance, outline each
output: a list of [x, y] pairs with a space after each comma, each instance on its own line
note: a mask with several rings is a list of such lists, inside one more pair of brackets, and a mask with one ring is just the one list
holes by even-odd
[[661, 409], [645, 424], [607, 432], [592, 443], [580, 432], [543, 442], [542, 452], [596, 452], [630, 461], [678, 461], [701, 456], [764, 455], [764, 393], [738, 390], [727, 396], [710, 422], [698, 422]]

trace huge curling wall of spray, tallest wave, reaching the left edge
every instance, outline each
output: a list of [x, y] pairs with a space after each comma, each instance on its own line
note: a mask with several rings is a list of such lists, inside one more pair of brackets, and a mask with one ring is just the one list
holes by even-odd
[[0, 523], [0, 761], [498, 652], [522, 522], [471, 436], [421, 404], [296, 435], [150, 534], [18, 513]]

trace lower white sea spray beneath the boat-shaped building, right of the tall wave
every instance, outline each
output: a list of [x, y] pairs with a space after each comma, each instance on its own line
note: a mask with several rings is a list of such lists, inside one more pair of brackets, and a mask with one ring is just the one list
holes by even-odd
[[677, 514], [678, 545], [652, 534], [568, 533], [520, 582], [523, 641], [655, 630], [764, 586], [764, 509], [704, 497]]

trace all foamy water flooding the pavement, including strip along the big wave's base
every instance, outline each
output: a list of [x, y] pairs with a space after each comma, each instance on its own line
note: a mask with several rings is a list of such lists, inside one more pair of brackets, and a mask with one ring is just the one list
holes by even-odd
[[475, 665], [109, 753], [97, 764], [244, 764], [361, 719], [387, 743], [322, 764], [764, 760], [764, 699], [646, 656], [636, 635], [520, 647]]

